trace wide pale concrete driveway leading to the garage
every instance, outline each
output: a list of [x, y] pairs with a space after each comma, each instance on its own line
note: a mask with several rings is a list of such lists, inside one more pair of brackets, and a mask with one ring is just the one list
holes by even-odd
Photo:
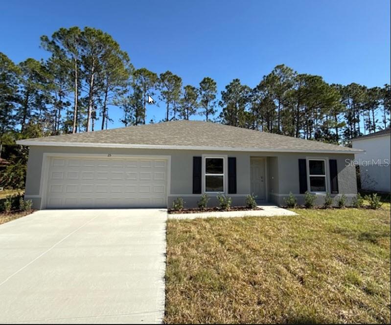
[[159, 323], [165, 210], [44, 210], [0, 225], [0, 323]]

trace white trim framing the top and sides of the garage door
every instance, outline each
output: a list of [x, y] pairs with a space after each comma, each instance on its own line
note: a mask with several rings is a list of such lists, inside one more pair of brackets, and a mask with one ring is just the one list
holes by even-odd
[[[110, 156], [109, 156], [110, 154]], [[52, 157], [104, 157], [104, 158], [149, 158], [149, 159], [165, 159], [167, 160], [167, 190], [166, 190], [166, 204], [168, 205], [168, 196], [171, 192], [171, 156], [169, 155], [146, 155], [146, 154], [115, 154], [108, 152], [102, 153], [61, 153], [61, 152], [44, 152], [42, 156], [42, 170], [40, 181], [40, 194], [37, 197], [41, 197], [40, 209], [46, 207], [46, 188], [47, 188], [47, 176], [49, 172], [49, 160]]]

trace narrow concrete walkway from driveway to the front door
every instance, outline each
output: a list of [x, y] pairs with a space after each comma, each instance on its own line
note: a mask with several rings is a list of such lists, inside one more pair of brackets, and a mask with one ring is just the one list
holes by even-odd
[[232, 218], [232, 217], [273, 217], [273, 216], [296, 216], [293, 211], [280, 208], [276, 205], [259, 205], [262, 210], [253, 211], [222, 211], [203, 213], [169, 214], [169, 219], [195, 219], [195, 218]]

